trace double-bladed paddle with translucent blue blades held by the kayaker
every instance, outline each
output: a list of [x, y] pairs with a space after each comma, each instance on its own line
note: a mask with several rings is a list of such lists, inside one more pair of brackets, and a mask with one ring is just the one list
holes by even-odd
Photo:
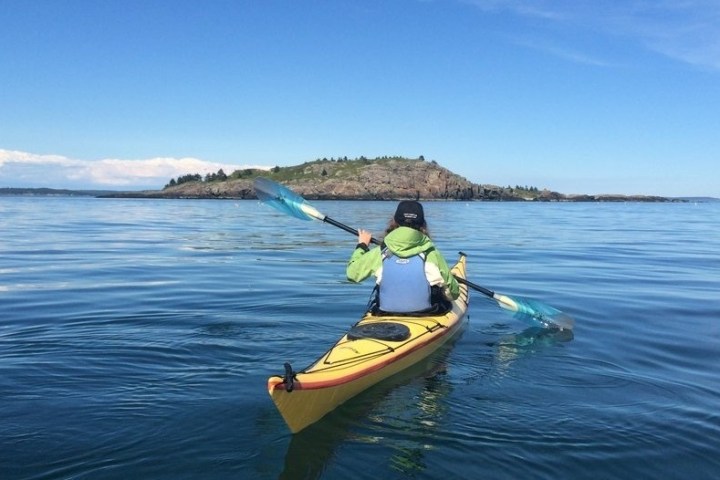
[[[353, 235], [358, 234], [357, 229], [349, 227], [337, 220], [333, 220], [327, 215], [320, 213], [318, 209], [310, 205], [304, 198], [284, 185], [267, 178], [258, 177], [255, 179], [254, 186], [258, 199], [283, 213], [299, 218], [300, 220], [319, 220], [341, 228]], [[371, 239], [371, 242], [376, 245], [380, 245], [381, 243], [375, 238]], [[533, 326], [546, 328], [556, 327], [560, 329], [573, 328], [575, 322], [570, 316], [556, 308], [545, 305], [540, 301], [523, 297], [502, 295], [467, 281], [464, 278], [456, 278], [458, 282], [482, 293], [486, 297], [492, 298], [500, 307], [513, 312], [515, 318], [525, 321]]]

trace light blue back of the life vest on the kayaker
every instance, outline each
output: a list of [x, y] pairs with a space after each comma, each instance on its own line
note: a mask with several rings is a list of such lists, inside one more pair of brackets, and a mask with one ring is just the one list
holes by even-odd
[[401, 258], [383, 253], [382, 280], [379, 288], [380, 310], [411, 313], [429, 310], [430, 283], [425, 276], [425, 255]]

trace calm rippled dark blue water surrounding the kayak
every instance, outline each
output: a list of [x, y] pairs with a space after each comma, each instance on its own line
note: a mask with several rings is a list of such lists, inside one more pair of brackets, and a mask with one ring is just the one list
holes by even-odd
[[[379, 232], [393, 203], [316, 202]], [[291, 435], [267, 377], [370, 283], [254, 201], [0, 198], [0, 478], [720, 478], [720, 203], [428, 203], [469, 279], [449, 349]]]

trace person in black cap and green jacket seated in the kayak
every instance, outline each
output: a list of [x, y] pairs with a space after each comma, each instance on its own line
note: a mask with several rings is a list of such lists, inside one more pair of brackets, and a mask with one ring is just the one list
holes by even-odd
[[358, 244], [347, 265], [347, 278], [377, 278], [378, 308], [387, 313], [434, 313], [460, 288], [445, 258], [428, 236], [422, 204], [403, 200], [390, 219], [385, 238], [370, 249], [372, 233], [358, 230]]

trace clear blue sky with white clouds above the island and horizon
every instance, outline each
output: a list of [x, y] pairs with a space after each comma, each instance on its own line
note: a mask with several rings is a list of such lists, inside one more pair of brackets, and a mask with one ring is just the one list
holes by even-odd
[[716, 0], [2, 0], [0, 25], [0, 187], [422, 155], [720, 197]]

